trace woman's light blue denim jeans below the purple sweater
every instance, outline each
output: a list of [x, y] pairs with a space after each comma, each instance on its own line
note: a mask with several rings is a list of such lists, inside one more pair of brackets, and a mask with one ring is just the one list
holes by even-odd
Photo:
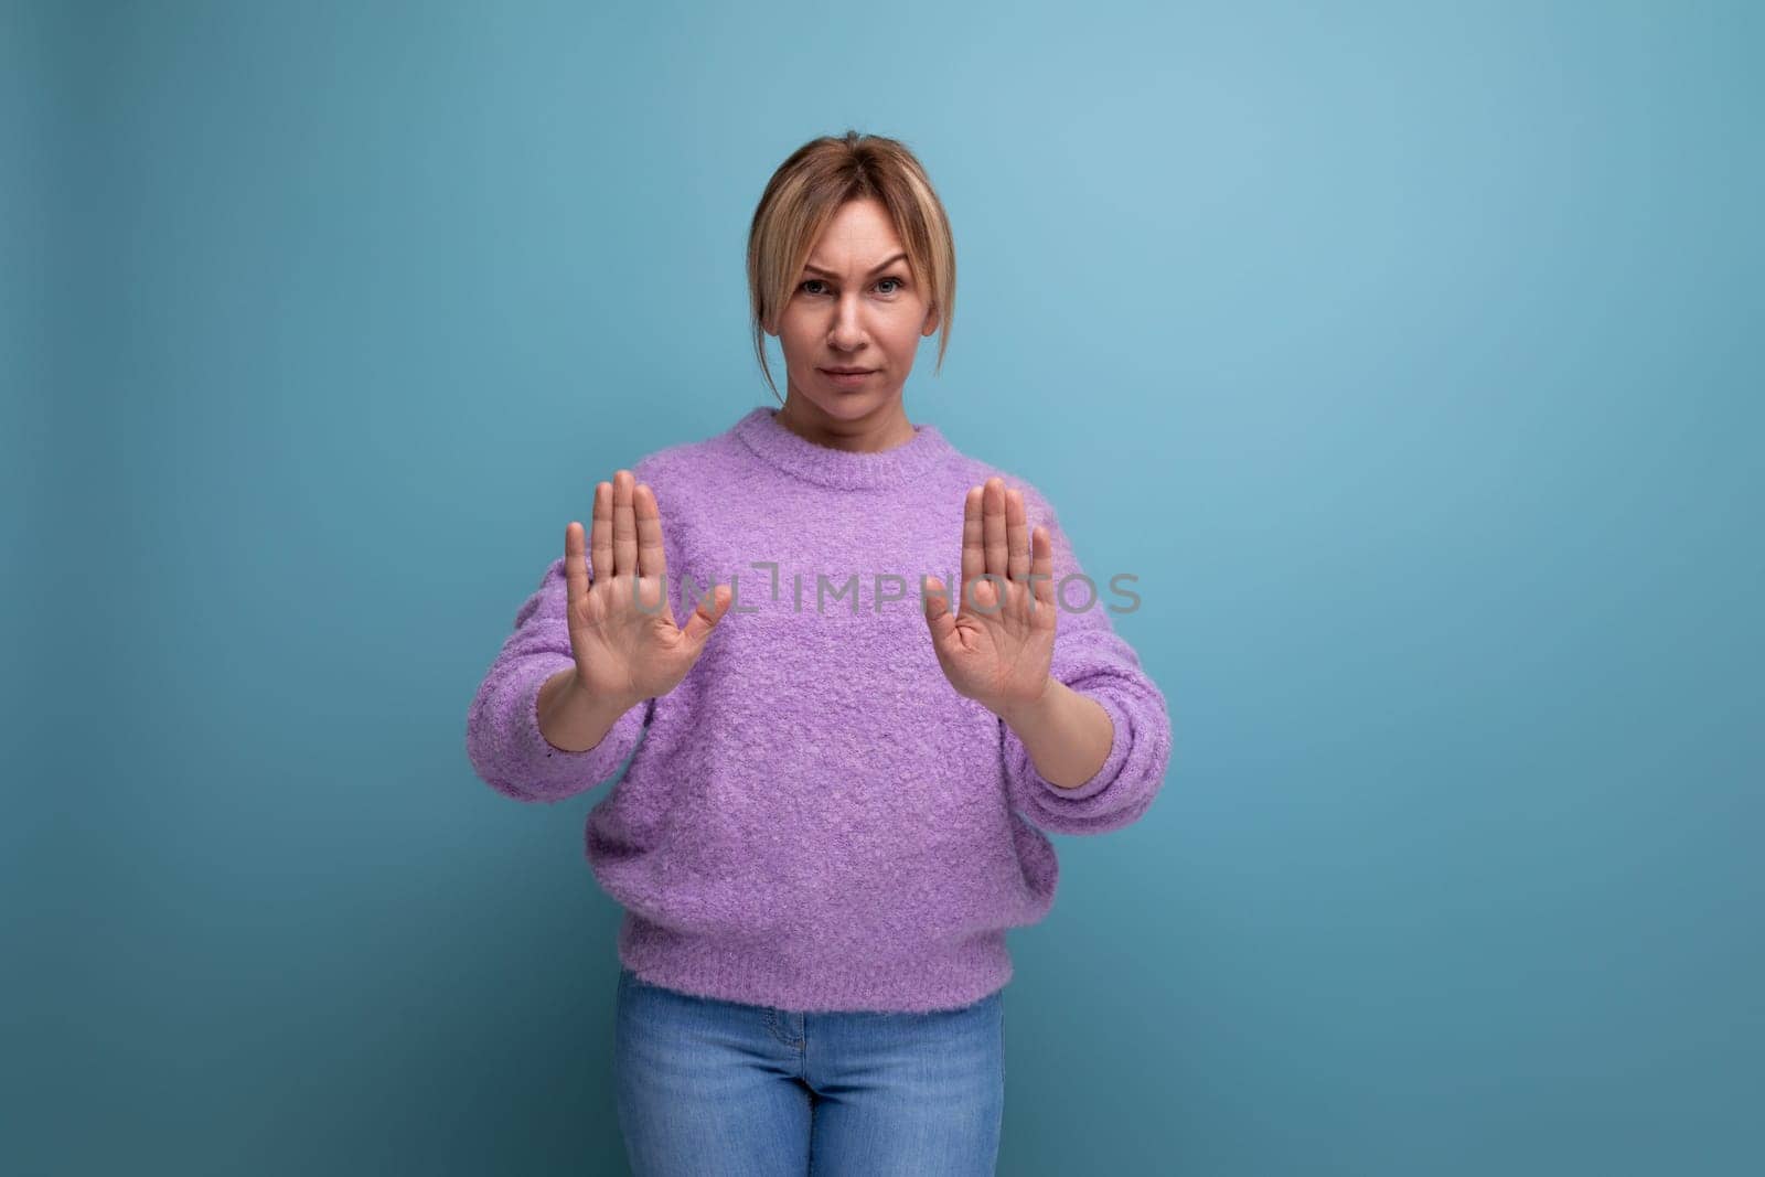
[[614, 1083], [637, 1177], [971, 1177], [1004, 1121], [1004, 990], [932, 1013], [792, 1013], [620, 965]]

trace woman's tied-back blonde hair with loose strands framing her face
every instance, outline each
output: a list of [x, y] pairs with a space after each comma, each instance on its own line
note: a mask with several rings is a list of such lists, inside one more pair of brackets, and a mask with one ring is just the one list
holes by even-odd
[[[854, 199], [875, 199], [888, 210], [907, 252], [907, 266], [939, 314], [937, 367], [944, 367], [950, 323], [957, 311], [957, 245], [950, 219], [925, 168], [905, 143], [879, 134], [821, 136], [796, 148], [766, 182], [748, 226], [748, 309], [754, 355], [778, 395], [766, 365], [766, 325], [777, 323], [808, 251], [833, 214]], [[784, 399], [778, 399], [784, 404]]]

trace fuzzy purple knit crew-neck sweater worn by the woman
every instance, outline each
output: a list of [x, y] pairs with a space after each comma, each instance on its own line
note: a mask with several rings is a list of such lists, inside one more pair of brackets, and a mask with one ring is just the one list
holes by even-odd
[[964, 494], [992, 475], [1050, 529], [1061, 588], [1080, 566], [1047, 499], [935, 425], [854, 454], [773, 413], [632, 466], [662, 512], [674, 619], [713, 582], [736, 589], [687, 678], [595, 748], [551, 746], [538, 688], [574, 665], [560, 556], [478, 686], [466, 752], [521, 801], [575, 796], [632, 757], [586, 851], [625, 909], [620, 960], [646, 981], [798, 1011], [980, 1001], [1011, 979], [1006, 928], [1054, 902], [1043, 831], [1119, 829], [1163, 783], [1165, 699], [1108, 619], [1133, 589], [1064, 584], [1052, 672], [1103, 704], [1114, 743], [1063, 789], [950, 686], [920, 603], [921, 574], [957, 584]]

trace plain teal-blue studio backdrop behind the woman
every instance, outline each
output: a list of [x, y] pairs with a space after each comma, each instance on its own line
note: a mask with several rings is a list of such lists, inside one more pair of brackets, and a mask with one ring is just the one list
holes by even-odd
[[4, 12], [0, 1166], [621, 1170], [604, 792], [466, 706], [771, 404], [847, 127], [955, 226], [909, 416], [1175, 725], [1011, 933], [1001, 1172], [1765, 1165], [1760, 7]]

